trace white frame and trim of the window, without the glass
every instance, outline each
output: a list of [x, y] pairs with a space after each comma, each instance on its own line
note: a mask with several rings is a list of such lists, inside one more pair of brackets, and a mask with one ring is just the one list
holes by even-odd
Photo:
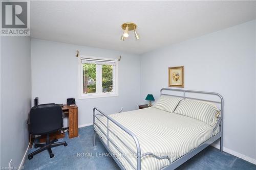
[[[95, 59], [95, 60], [108, 60], [108, 61], [114, 61], [116, 63], [115, 66], [113, 66], [113, 92], [102, 92], [102, 74], [97, 74], [97, 72], [102, 72], [102, 65], [96, 66], [96, 93], [83, 93], [83, 81], [82, 81], [82, 58], [87, 59]], [[115, 69], [114, 69], [115, 68]], [[97, 88], [99, 87], [99, 88]], [[101, 57], [93, 57], [93, 56], [83, 56], [79, 55], [78, 57], [78, 99], [91, 99], [91, 98], [105, 98], [105, 97], [112, 97], [112, 96], [118, 96], [118, 59], [113, 58], [101, 58]]]

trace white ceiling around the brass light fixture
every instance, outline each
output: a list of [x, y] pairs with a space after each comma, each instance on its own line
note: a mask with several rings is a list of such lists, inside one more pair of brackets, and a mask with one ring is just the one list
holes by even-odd
[[254, 19], [256, 1], [31, 1], [31, 37], [134, 54]]

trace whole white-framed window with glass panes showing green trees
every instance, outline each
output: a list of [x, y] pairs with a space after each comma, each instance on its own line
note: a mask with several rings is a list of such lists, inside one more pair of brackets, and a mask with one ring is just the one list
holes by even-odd
[[79, 99], [118, 95], [117, 59], [79, 57]]

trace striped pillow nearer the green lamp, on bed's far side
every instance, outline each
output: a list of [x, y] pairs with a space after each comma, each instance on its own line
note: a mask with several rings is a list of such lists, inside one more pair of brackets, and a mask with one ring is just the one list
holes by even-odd
[[161, 95], [153, 107], [173, 113], [181, 100], [181, 98], [172, 98], [170, 96]]

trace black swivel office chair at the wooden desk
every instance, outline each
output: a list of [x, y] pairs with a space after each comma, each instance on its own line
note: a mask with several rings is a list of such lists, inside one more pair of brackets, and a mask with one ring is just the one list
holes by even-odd
[[49, 134], [61, 130], [63, 127], [62, 109], [59, 105], [51, 103], [44, 105], [37, 105], [30, 110], [30, 133], [32, 135], [47, 135], [46, 143], [35, 143], [35, 148], [40, 148], [31, 154], [28, 158], [32, 159], [34, 155], [48, 150], [50, 158], [54, 157], [51, 148], [59, 145], [68, 145], [66, 141], [57, 142], [56, 138], [52, 141], [49, 139]]

